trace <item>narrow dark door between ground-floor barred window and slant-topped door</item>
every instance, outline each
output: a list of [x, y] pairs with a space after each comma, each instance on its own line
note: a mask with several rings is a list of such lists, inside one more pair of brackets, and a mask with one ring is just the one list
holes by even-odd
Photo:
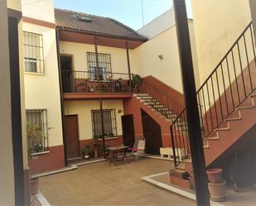
[[134, 125], [133, 114], [122, 116], [123, 145], [133, 147], [134, 144]]

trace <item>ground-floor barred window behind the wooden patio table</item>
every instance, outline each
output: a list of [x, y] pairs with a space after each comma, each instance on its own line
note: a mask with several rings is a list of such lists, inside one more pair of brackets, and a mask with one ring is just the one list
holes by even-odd
[[[104, 109], [103, 110], [104, 119], [104, 137], [116, 137], [117, 127], [116, 127], [116, 117], [114, 109]], [[92, 122], [93, 122], [93, 135], [102, 137], [101, 130], [101, 118], [99, 110], [92, 110]]]

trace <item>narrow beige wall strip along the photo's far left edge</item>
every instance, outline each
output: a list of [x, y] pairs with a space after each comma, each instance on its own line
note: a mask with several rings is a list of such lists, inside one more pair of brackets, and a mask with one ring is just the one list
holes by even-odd
[[11, 85], [9, 68], [7, 2], [0, 1], [0, 205], [14, 205], [14, 171], [12, 156]]

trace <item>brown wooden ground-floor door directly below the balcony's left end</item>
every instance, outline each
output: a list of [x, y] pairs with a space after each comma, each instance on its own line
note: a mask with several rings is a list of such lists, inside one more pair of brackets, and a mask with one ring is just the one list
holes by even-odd
[[80, 156], [77, 115], [65, 116], [65, 144], [67, 159]]

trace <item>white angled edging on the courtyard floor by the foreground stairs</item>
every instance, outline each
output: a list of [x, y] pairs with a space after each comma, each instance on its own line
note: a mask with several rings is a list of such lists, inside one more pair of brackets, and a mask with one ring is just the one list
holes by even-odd
[[[164, 184], [160, 181], [157, 181], [157, 180], [153, 180], [152, 177], [157, 177], [157, 176], [161, 176], [161, 175], [167, 175], [169, 174], [169, 172], [163, 172], [163, 173], [158, 173], [158, 174], [154, 174], [154, 175], [148, 175], [148, 176], [144, 176], [142, 177], [142, 180], [143, 181], [146, 181], [150, 184], [154, 184], [156, 185], [157, 187], [160, 187], [162, 189], [167, 189], [169, 191], [171, 191], [172, 193], [175, 193], [175, 194], [179, 194], [183, 197], [186, 197], [188, 199], [193, 199], [196, 201], [196, 194], [193, 194], [193, 193], [190, 193], [190, 192], [187, 192], [183, 189], [178, 189], [174, 186], [171, 186], [169, 184]], [[211, 206], [225, 206], [225, 204], [219, 204], [219, 203], [216, 203], [216, 202], [213, 202], [213, 201], [210, 201], [210, 205]]]

